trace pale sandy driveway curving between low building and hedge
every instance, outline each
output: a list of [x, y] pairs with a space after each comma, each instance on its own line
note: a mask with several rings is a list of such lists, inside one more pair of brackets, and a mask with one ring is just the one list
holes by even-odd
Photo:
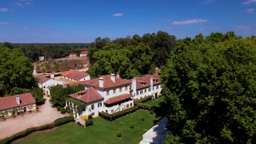
[[68, 113], [61, 114], [60, 111], [57, 111], [56, 107], [51, 107], [49, 103], [50, 98], [45, 96], [44, 98], [46, 101], [44, 105], [39, 106], [40, 112], [27, 113], [26, 115], [8, 118], [0, 122], [0, 131], [2, 131], [0, 139], [4, 139], [27, 128], [49, 124], [57, 118], [69, 116]]

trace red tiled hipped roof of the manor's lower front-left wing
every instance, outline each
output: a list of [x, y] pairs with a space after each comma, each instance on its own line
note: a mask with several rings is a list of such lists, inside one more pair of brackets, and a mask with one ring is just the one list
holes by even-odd
[[[80, 94], [80, 97], [78, 97], [78, 94]], [[69, 97], [84, 101], [85, 103], [90, 103], [95, 100], [101, 100], [104, 99], [95, 88], [88, 88], [84, 89], [83, 91], [79, 91], [77, 93], [73, 93], [69, 95]]]

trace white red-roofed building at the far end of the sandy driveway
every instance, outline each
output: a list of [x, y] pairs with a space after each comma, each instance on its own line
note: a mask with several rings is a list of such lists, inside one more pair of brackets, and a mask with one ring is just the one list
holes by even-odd
[[50, 95], [50, 87], [59, 86], [59, 85], [63, 86], [63, 82], [54, 80], [54, 77], [48, 78], [40, 75], [33, 75], [33, 76], [39, 80], [38, 87], [43, 88], [44, 93], [47, 95]]

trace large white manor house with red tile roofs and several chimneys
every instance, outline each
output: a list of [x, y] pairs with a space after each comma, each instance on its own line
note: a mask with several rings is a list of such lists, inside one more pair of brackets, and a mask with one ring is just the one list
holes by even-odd
[[[153, 95], [157, 98], [162, 89], [158, 75], [135, 77], [124, 80], [114, 74], [101, 76], [98, 79], [84, 81], [85, 89], [69, 95], [74, 99], [86, 103], [86, 110], [77, 117], [83, 119], [89, 115], [98, 116], [98, 112], [114, 113], [133, 106], [133, 100]], [[72, 105], [71, 103], [66, 103]]]

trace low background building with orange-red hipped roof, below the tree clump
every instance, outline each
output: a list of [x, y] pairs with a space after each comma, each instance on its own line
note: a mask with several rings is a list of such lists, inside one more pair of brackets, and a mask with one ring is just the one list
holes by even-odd
[[61, 79], [66, 79], [71, 82], [86, 81], [90, 80], [90, 75], [82, 71], [71, 69], [61, 74]]

